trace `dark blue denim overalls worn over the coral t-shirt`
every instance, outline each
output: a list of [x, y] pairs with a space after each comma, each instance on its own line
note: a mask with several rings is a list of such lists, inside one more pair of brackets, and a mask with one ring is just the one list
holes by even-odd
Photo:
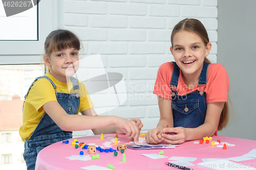
[[207, 68], [209, 63], [203, 65], [202, 72], [199, 77], [198, 86], [200, 91], [196, 90], [185, 95], [178, 95], [176, 89], [180, 75], [180, 68], [173, 62], [173, 75], [170, 81], [172, 89], [172, 108], [174, 127], [197, 128], [204, 124], [206, 115], [206, 93], [204, 89], [207, 82]]

